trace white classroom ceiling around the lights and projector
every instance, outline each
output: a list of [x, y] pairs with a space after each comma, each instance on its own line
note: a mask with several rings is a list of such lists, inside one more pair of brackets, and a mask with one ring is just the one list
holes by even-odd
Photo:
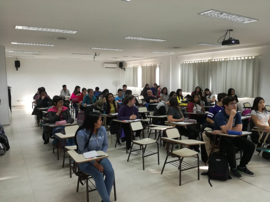
[[[34, 58], [83, 58], [96, 61], [134, 61], [203, 51], [265, 46], [270, 43], [269, 0], [9, 0], [0, 2], [0, 45], [6, 56]], [[211, 18], [198, 13], [215, 9], [259, 19], [238, 23]], [[15, 26], [77, 30], [75, 34], [19, 30]], [[217, 44], [228, 29], [239, 45], [215, 47], [197, 43]], [[145, 37], [166, 41], [143, 41], [124, 37]], [[69, 40], [56, 40], [57, 37]], [[226, 39], [228, 38], [228, 35]], [[54, 44], [33, 46], [11, 42]], [[95, 50], [92, 47], [124, 49]], [[174, 48], [174, 47], [181, 47]], [[10, 53], [9, 50], [42, 53]], [[168, 51], [168, 53], [150, 53]], [[123, 57], [137, 56], [141, 58]]]

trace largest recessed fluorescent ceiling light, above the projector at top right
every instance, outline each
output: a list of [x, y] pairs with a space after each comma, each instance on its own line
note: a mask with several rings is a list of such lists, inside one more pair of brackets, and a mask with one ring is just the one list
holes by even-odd
[[232, 13], [226, 13], [226, 12], [217, 11], [217, 10], [205, 11], [205, 12], [198, 13], [198, 14], [213, 17], [213, 18], [231, 20], [231, 21], [234, 21], [234, 22], [241, 22], [241, 23], [258, 21], [258, 19], [248, 18], [248, 17], [245, 17], [245, 16], [235, 15], [235, 14], [232, 14]]

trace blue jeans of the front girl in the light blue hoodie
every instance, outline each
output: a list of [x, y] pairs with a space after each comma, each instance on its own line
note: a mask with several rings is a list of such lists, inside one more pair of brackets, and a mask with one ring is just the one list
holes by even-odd
[[99, 164], [103, 166], [103, 173], [105, 175], [105, 180], [102, 172], [100, 172], [92, 163], [80, 163], [79, 168], [82, 172], [87, 173], [92, 176], [96, 183], [97, 191], [103, 202], [110, 202], [110, 194], [113, 187], [114, 181], [114, 170], [109, 159], [104, 158], [99, 161]]

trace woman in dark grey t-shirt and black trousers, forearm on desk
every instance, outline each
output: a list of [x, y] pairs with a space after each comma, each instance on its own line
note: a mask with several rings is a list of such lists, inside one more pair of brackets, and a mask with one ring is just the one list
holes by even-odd
[[[178, 101], [176, 98], [170, 99], [170, 107], [168, 109], [167, 118], [169, 122], [184, 121], [184, 115], [180, 109], [178, 109]], [[188, 137], [189, 140], [196, 140], [199, 136], [199, 132], [191, 126], [176, 126], [181, 135]], [[200, 152], [200, 145], [190, 145], [190, 149], [194, 149], [196, 152]], [[193, 157], [196, 157], [194, 155]]]

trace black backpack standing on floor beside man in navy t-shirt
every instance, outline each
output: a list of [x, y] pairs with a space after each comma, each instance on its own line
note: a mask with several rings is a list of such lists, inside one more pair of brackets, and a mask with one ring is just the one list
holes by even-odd
[[232, 179], [229, 175], [229, 165], [226, 154], [221, 152], [212, 153], [209, 156], [208, 172], [203, 172], [202, 175], [208, 175], [208, 182], [211, 187], [212, 184], [210, 183], [210, 179], [223, 181]]

